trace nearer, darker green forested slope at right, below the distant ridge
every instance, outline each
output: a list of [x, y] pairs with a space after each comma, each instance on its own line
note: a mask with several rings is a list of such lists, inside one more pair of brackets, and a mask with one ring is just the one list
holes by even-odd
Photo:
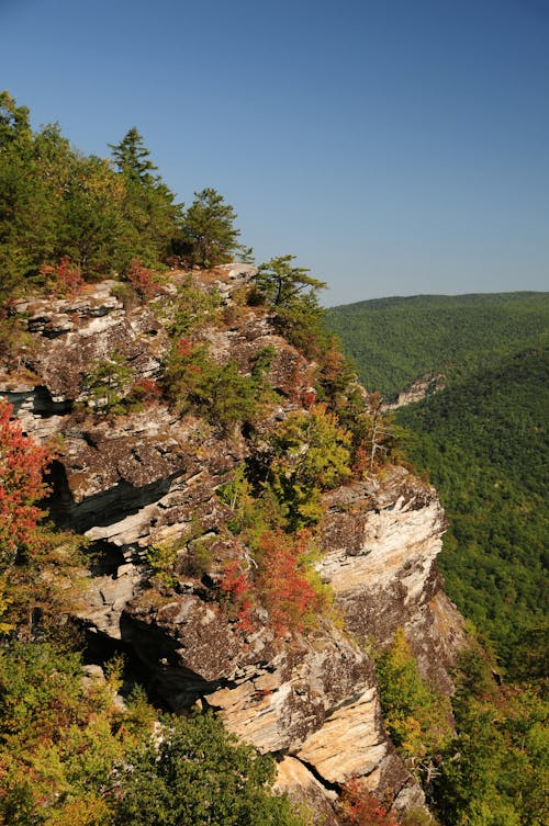
[[401, 408], [450, 519], [440, 565], [513, 674], [540, 674], [548, 535], [548, 349], [509, 354]]

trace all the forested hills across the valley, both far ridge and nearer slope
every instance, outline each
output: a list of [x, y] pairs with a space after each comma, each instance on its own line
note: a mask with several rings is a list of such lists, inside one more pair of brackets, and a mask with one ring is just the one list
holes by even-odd
[[549, 293], [386, 298], [327, 318], [370, 389], [394, 396], [427, 372], [445, 374], [444, 391], [395, 419], [450, 519], [448, 592], [512, 676], [539, 675]]

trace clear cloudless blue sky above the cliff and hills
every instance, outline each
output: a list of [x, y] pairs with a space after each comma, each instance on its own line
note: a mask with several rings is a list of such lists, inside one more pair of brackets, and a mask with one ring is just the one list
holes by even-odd
[[324, 303], [549, 290], [549, 0], [0, 0], [0, 90], [142, 133]]

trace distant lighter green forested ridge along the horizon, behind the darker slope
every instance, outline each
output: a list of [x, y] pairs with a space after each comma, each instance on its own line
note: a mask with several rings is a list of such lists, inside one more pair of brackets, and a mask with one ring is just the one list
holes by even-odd
[[326, 319], [365, 387], [390, 400], [426, 373], [458, 376], [542, 340], [549, 293], [377, 298]]

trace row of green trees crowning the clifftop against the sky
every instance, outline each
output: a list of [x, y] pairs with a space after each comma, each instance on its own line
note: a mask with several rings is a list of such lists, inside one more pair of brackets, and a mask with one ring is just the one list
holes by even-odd
[[25, 106], [0, 94], [0, 298], [44, 284], [70, 262], [90, 280], [184, 260], [211, 267], [245, 253], [232, 206], [213, 189], [176, 203], [135, 127], [112, 159], [85, 156], [57, 124], [33, 132]]

